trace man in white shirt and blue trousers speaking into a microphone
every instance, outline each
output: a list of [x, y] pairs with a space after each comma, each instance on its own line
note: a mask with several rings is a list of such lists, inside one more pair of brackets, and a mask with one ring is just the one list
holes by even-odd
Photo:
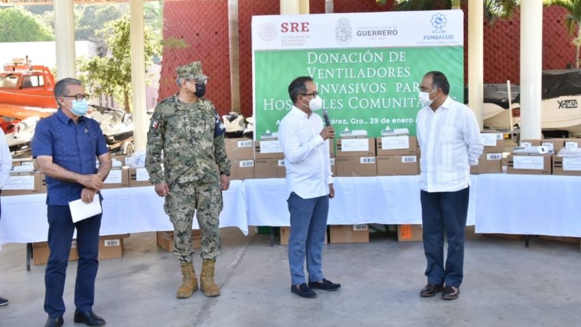
[[297, 77], [288, 86], [288, 95], [294, 106], [282, 119], [278, 137], [284, 152], [290, 212], [290, 291], [302, 298], [315, 298], [317, 293], [312, 289], [335, 291], [341, 287], [325, 279], [322, 271], [329, 199], [335, 195], [329, 156], [329, 140], [335, 132], [332, 126], [325, 128], [321, 117], [313, 114], [322, 108], [323, 100], [312, 77]]

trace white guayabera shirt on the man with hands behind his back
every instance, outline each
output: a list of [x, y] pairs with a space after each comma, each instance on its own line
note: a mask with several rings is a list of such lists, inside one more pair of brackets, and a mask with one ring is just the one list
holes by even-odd
[[435, 112], [419, 110], [417, 139], [421, 149], [421, 189], [455, 192], [470, 185], [470, 166], [484, 149], [474, 112], [450, 97]]

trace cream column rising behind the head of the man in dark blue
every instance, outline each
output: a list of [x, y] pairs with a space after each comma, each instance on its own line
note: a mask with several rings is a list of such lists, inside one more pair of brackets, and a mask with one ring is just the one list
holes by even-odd
[[[73, 0], [54, 1], [56, 77], [77, 77]], [[33, 57], [34, 58], [34, 57]]]

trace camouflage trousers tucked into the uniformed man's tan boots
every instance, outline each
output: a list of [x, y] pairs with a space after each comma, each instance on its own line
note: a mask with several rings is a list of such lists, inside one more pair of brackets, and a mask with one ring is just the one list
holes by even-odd
[[219, 215], [223, 208], [219, 182], [186, 182], [169, 185], [164, 209], [173, 223], [173, 253], [182, 262], [192, 262], [192, 222], [198, 219], [201, 253], [204, 259], [215, 259], [221, 250]]

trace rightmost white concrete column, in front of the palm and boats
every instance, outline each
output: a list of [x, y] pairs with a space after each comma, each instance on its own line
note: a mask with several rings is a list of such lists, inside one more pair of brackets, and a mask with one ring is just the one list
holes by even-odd
[[521, 1], [521, 139], [541, 138], [543, 0]]

